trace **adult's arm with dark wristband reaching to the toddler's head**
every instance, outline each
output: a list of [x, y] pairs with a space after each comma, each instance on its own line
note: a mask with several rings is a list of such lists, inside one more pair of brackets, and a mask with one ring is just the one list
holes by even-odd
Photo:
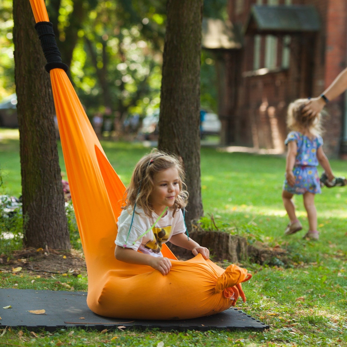
[[[323, 92], [328, 100], [333, 100], [347, 89], [347, 68], [341, 71], [341, 73], [334, 79], [330, 86]], [[311, 118], [316, 117], [319, 112], [322, 111], [326, 102], [321, 97], [312, 98], [307, 102], [303, 111], [305, 115], [310, 115]]]

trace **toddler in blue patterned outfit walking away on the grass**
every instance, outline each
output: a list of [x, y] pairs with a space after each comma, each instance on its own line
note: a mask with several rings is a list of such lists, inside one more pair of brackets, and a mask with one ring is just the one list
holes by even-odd
[[283, 184], [282, 200], [290, 222], [285, 235], [302, 229], [296, 217], [293, 195], [303, 195], [307, 211], [309, 230], [304, 238], [319, 239], [315, 194], [321, 193], [317, 166], [320, 164], [329, 181], [334, 180], [329, 160], [323, 152], [321, 137], [321, 113], [315, 117], [305, 115], [303, 109], [307, 99], [298, 99], [288, 107], [287, 126], [292, 130], [285, 141], [287, 145], [286, 179]]

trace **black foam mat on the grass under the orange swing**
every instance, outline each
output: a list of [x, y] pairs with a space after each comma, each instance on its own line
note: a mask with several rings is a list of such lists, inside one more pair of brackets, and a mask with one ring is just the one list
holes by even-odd
[[[139, 330], [159, 328], [162, 331], [269, 329], [269, 325], [237, 308], [194, 319], [133, 320], [99, 316], [88, 308], [86, 299], [87, 293], [82, 291], [0, 289], [0, 328], [26, 328], [31, 331], [44, 329], [50, 332], [72, 327], [112, 330], [120, 325]], [[11, 307], [3, 308], [7, 306]], [[32, 310], [45, 310], [45, 313], [28, 312]]]

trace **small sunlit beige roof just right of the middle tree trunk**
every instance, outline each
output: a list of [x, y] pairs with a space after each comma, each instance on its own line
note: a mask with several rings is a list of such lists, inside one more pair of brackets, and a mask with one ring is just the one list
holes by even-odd
[[234, 50], [242, 48], [241, 30], [229, 21], [214, 18], [202, 20], [202, 48]]

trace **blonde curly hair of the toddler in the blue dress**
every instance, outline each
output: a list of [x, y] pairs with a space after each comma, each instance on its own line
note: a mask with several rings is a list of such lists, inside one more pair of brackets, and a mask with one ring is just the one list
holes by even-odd
[[297, 99], [289, 104], [287, 112], [287, 126], [290, 130], [302, 132], [308, 130], [312, 135], [322, 135], [322, 115], [310, 118], [303, 113], [308, 99]]

